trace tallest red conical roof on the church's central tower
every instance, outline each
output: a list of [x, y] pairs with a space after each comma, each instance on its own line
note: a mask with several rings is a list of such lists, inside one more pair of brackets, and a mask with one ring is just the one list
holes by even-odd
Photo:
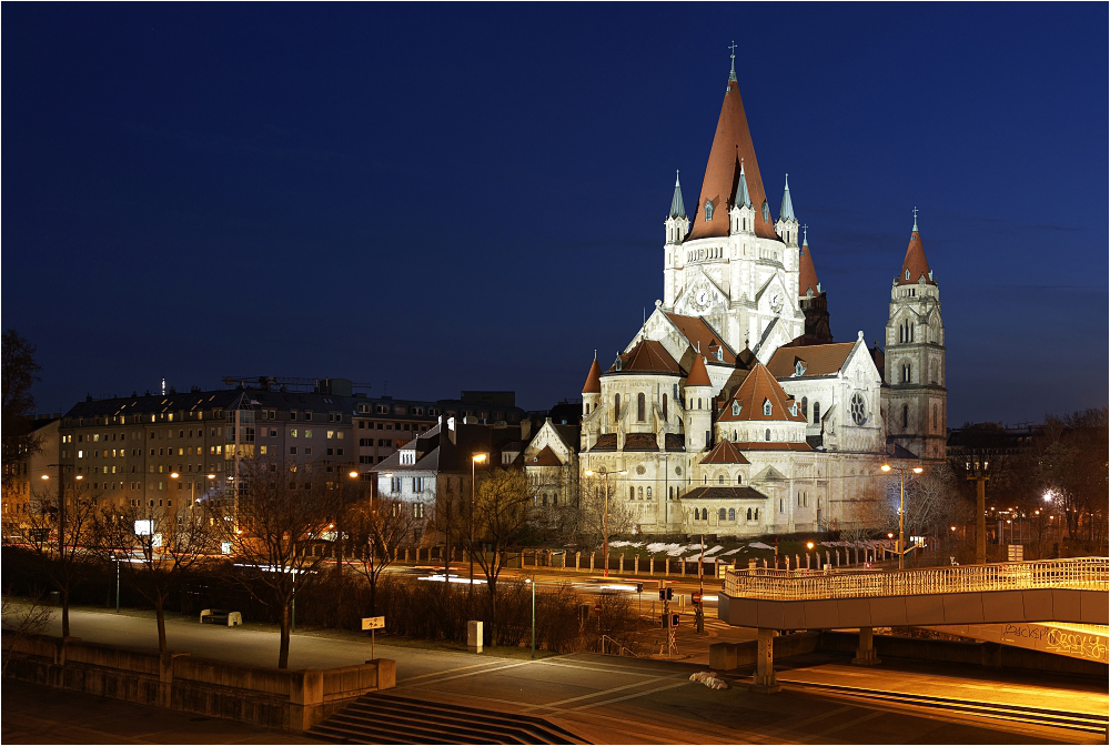
[[734, 201], [733, 190], [737, 184], [743, 161], [747, 170], [748, 193], [756, 211], [755, 233], [764, 239], [779, 241], [770, 220], [764, 220], [763, 204], [767, 201], [767, 194], [759, 177], [756, 150], [751, 144], [751, 133], [748, 131], [748, 118], [744, 113], [744, 102], [740, 101], [740, 89], [735, 77], [729, 78], [725, 88], [725, 101], [717, 118], [717, 130], [713, 135], [713, 147], [709, 149], [709, 161], [705, 167], [702, 192], [698, 194], [697, 208], [694, 211], [694, 225], [689, 239], [728, 235], [727, 214], [722, 212], [722, 218], [706, 222], [705, 203], [713, 203], [717, 212], [727, 210], [727, 205]]

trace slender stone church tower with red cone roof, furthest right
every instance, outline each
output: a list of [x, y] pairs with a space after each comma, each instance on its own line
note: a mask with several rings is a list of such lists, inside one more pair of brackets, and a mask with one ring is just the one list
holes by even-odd
[[921, 458], [942, 460], [948, 432], [945, 324], [940, 289], [917, 229], [917, 209], [906, 259], [890, 288], [885, 363], [888, 436]]

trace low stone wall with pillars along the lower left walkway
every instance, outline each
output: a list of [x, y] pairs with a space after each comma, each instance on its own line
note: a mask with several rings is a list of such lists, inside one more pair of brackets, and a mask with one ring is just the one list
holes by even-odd
[[265, 728], [303, 732], [366, 692], [396, 684], [396, 662], [285, 671], [85, 643], [4, 634], [3, 675]]

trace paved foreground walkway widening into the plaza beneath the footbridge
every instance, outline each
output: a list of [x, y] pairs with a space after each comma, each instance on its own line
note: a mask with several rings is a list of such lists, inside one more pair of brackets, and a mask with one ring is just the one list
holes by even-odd
[[[85, 639], [157, 647], [149, 615], [74, 609], [71, 623], [73, 634]], [[276, 658], [278, 636], [261, 625], [228, 628], [170, 618], [167, 634], [173, 649], [193, 655], [262, 665], [272, 665]], [[850, 682], [861, 689], [942, 692], [970, 700], [1070, 710], [1101, 708], [1106, 713], [1110, 704], [1104, 682], [1077, 683], [1043, 674], [1016, 677], [911, 662], [885, 662], [880, 668], [861, 669], [848, 665], [845, 657], [827, 655], [784, 659], [779, 673], [787, 682], [784, 692], [759, 695], [748, 690], [747, 672], [726, 677], [731, 687], [725, 690], [690, 682], [689, 675], [705, 666], [689, 662], [594, 654], [532, 661], [526, 654], [507, 658], [400, 645], [377, 648], [379, 656], [397, 661], [397, 694], [537, 715], [602, 744], [1017, 744], [1100, 743], [1104, 737], [1007, 720], [972, 722], [920, 707], [828, 696], [806, 686], [820, 682]], [[300, 633], [293, 636], [290, 651], [293, 667], [347, 665], [369, 657], [370, 642], [350, 633]]]

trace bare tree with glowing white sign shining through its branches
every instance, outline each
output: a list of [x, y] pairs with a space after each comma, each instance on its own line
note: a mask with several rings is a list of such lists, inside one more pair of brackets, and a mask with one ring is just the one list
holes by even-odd
[[154, 608], [160, 653], [169, 649], [165, 603], [193, 564], [214, 548], [213, 533], [192, 506], [108, 506], [97, 513], [94, 551], [105, 563], [119, 563], [124, 582]]

